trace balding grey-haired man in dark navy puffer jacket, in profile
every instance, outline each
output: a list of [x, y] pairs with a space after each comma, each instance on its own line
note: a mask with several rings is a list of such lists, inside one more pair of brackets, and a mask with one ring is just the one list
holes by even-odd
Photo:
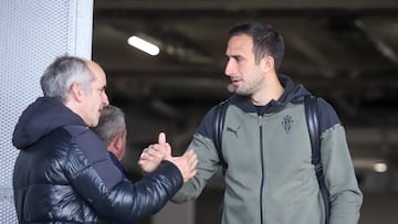
[[108, 105], [106, 76], [94, 62], [55, 60], [41, 78], [43, 97], [20, 117], [13, 171], [20, 223], [112, 223], [159, 211], [196, 172], [196, 154], [165, 158], [132, 183], [88, 128]]

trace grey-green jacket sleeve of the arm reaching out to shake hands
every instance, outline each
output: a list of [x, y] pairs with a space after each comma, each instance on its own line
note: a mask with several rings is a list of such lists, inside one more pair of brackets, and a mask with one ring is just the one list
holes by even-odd
[[193, 149], [198, 157], [197, 174], [172, 196], [175, 203], [184, 203], [197, 199], [211, 177], [220, 170], [219, 157], [212, 140], [213, 109], [203, 117], [188, 149]]

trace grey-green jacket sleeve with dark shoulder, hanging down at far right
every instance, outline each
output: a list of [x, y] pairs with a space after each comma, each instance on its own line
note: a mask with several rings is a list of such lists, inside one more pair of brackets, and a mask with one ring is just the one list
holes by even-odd
[[356, 224], [363, 194], [358, 188], [344, 127], [335, 110], [320, 100], [321, 158], [331, 196], [331, 224]]

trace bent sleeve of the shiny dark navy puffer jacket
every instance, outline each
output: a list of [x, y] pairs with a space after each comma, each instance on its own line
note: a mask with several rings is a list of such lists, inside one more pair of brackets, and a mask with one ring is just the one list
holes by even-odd
[[76, 137], [66, 168], [74, 190], [98, 216], [134, 221], [158, 212], [182, 185], [182, 177], [171, 162], [132, 183], [109, 159], [103, 142], [91, 131]]

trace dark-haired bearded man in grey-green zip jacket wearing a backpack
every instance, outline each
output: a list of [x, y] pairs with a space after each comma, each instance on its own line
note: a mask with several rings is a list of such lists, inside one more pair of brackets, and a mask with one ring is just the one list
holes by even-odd
[[[233, 26], [226, 75], [234, 87], [226, 111], [221, 150], [224, 175], [223, 224], [324, 224], [325, 210], [305, 118], [310, 93], [277, 74], [282, 36], [271, 25]], [[333, 107], [318, 98], [321, 158], [329, 192], [331, 224], [355, 224], [363, 194], [345, 130]], [[220, 169], [214, 147], [214, 108], [205, 116], [188, 147], [198, 156], [197, 174], [172, 198], [193, 200]]]

